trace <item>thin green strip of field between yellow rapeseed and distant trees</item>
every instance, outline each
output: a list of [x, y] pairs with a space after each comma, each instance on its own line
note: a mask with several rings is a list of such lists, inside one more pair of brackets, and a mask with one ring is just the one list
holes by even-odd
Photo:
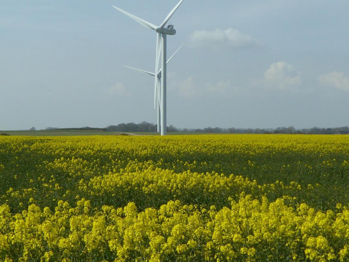
[[[107, 131], [57, 131], [57, 130], [40, 130], [40, 131], [0, 131], [10, 136], [120, 136], [121, 134], [135, 134], [137, 136], [159, 136], [157, 132], [107, 132]], [[184, 134], [213, 134], [213, 133], [194, 133], [194, 132], [169, 132], [168, 135]], [[220, 133], [222, 134], [222, 133]]]

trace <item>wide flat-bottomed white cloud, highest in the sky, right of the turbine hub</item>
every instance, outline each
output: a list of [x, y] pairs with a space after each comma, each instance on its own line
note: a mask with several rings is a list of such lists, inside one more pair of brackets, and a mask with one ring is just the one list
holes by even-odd
[[196, 30], [190, 35], [190, 43], [195, 47], [211, 46], [214, 49], [221, 46], [251, 48], [259, 45], [256, 39], [233, 28], [227, 30], [216, 29], [213, 31]]

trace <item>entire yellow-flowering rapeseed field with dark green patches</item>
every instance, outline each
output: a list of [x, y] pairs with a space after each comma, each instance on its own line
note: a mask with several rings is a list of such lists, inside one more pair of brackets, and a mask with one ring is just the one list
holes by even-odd
[[0, 261], [349, 261], [349, 136], [0, 137]]

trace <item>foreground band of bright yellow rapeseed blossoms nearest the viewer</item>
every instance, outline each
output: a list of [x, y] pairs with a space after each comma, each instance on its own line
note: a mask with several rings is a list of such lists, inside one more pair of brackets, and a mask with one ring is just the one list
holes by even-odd
[[314, 261], [349, 258], [349, 210], [297, 210], [241, 194], [220, 210], [169, 201], [138, 211], [81, 199], [55, 210], [0, 206], [0, 254], [19, 261]]

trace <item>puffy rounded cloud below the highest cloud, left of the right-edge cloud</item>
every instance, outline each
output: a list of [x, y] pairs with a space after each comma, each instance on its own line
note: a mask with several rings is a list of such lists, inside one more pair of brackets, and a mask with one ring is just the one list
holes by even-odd
[[285, 89], [299, 86], [302, 80], [294, 66], [279, 61], [270, 65], [270, 68], [264, 73], [264, 82], [267, 87]]

